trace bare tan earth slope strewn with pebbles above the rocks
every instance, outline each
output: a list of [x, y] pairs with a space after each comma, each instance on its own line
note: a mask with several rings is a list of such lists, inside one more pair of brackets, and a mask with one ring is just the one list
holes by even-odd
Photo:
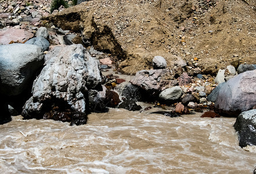
[[255, 63], [255, 0], [93, 0], [49, 20], [116, 56], [126, 74], [152, 68], [154, 56], [170, 68], [182, 57], [203, 74]]

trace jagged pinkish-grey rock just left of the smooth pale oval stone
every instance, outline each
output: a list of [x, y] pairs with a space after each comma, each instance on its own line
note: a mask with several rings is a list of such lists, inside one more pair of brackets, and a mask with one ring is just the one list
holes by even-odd
[[168, 72], [166, 69], [138, 71], [130, 82], [145, 90], [148, 97], [156, 97], [164, 86], [161, 78]]

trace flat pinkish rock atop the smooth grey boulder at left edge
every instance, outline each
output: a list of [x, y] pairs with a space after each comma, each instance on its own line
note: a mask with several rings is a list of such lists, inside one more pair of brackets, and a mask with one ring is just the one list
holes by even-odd
[[0, 44], [7, 45], [11, 41], [23, 43], [30, 38], [33, 38], [32, 32], [24, 29], [8, 28], [6, 30], [0, 30]]

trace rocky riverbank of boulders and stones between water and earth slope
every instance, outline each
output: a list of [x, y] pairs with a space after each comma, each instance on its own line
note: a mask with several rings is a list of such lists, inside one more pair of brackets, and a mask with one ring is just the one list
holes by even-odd
[[[106, 112], [109, 107], [140, 112], [159, 107], [169, 117], [207, 109], [201, 117], [238, 117], [240, 146], [256, 146], [254, 64], [230, 62], [214, 77], [201, 74], [196, 57], [188, 62], [179, 56], [167, 60], [155, 55], [148, 57], [150, 70], [134, 72], [126, 81], [121, 78], [117, 52], [93, 49], [100, 39], [94, 45], [73, 32], [74, 25], [67, 30], [41, 20], [50, 15], [49, 1], [1, 1], [1, 5], [1, 123], [21, 114], [25, 119], [81, 125], [89, 113]], [[169, 66], [170, 61], [174, 66]], [[110, 69], [114, 73], [108, 73]], [[142, 108], [138, 102], [153, 106]], [[162, 111], [170, 106], [174, 109]]]

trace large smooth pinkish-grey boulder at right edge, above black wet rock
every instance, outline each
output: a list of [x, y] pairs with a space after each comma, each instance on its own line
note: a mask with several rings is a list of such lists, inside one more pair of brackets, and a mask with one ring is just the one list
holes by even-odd
[[256, 105], [256, 70], [246, 71], [229, 79], [215, 102], [215, 111], [221, 115], [237, 117]]

